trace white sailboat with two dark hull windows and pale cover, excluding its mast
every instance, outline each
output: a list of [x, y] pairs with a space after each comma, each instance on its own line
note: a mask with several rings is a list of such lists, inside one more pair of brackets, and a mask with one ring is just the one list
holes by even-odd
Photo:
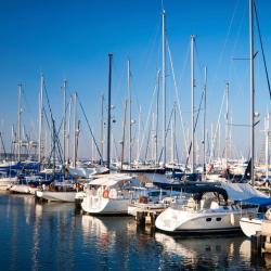
[[[217, 188], [219, 189], [219, 188]], [[223, 193], [221, 193], [223, 192]], [[262, 194], [246, 183], [221, 183], [218, 197], [189, 199], [186, 205], [172, 205], [156, 219], [157, 229], [166, 232], [214, 233], [240, 230], [240, 218], [249, 217], [258, 208], [244, 208], [236, 201]]]

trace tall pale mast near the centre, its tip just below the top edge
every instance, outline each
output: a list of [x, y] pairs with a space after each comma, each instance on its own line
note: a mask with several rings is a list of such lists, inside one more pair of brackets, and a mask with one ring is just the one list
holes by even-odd
[[163, 27], [163, 42], [162, 42], [162, 59], [163, 59], [163, 64], [162, 64], [162, 80], [163, 80], [163, 100], [164, 100], [164, 106], [163, 106], [163, 150], [164, 150], [164, 159], [163, 164], [164, 166], [166, 165], [166, 157], [167, 157], [167, 152], [166, 152], [166, 133], [167, 133], [167, 112], [166, 112], [166, 12], [163, 9], [162, 12], [162, 27]]

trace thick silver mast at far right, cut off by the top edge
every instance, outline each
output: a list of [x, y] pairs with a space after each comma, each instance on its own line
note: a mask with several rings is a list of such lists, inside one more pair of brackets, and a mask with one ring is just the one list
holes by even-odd
[[251, 149], [251, 185], [255, 183], [254, 159], [255, 159], [255, 89], [254, 89], [254, 17], [253, 0], [249, 0], [249, 87], [250, 87], [250, 149]]

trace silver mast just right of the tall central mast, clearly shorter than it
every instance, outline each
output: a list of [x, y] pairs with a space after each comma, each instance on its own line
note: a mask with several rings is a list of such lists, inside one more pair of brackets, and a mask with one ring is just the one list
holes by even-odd
[[195, 79], [194, 79], [194, 42], [195, 36], [191, 35], [191, 152], [192, 152], [192, 160], [191, 160], [191, 172], [195, 172], [195, 137], [194, 137], [194, 88], [195, 88]]

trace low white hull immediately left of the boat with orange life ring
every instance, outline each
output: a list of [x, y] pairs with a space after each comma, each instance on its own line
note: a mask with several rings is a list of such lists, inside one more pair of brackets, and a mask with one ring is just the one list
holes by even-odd
[[37, 191], [36, 196], [48, 202], [75, 203], [76, 192]]

